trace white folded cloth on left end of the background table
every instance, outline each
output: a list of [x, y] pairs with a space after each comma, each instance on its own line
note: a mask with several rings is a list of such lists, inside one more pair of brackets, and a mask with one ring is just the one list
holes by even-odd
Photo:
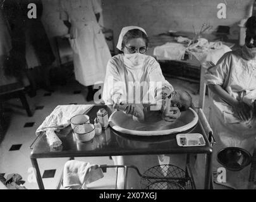
[[186, 47], [183, 44], [168, 42], [154, 48], [154, 56], [159, 60], [178, 60], [184, 58]]

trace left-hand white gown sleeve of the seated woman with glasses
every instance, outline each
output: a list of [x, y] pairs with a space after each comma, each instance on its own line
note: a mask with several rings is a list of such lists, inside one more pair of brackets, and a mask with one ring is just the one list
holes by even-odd
[[113, 59], [107, 62], [106, 77], [104, 81], [102, 99], [105, 104], [126, 102], [125, 86], [118, 73], [117, 64]]

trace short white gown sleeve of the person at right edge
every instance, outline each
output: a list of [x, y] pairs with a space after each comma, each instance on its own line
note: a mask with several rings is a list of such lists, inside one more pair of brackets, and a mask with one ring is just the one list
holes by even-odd
[[212, 66], [207, 70], [205, 74], [205, 80], [207, 85], [223, 85], [225, 79], [228, 76], [231, 66], [231, 55], [229, 53], [224, 54], [217, 62], [216, 66]]

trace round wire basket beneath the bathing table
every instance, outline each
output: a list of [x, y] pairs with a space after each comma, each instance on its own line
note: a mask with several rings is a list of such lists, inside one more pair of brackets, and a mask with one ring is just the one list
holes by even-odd
[[193, 189], [192, 180], [185, 170], [175, 165], [156, 165], [145, 171], [142, 189]]

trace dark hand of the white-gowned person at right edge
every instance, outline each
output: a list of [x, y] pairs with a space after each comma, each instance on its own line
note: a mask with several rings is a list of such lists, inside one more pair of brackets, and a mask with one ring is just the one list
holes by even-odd
[[248, 121], [251, 117], [250, 106], [242, 101], [238, 101], [233, 107], [235, 110], [235, 116], [237, 116], [241, 121]]

